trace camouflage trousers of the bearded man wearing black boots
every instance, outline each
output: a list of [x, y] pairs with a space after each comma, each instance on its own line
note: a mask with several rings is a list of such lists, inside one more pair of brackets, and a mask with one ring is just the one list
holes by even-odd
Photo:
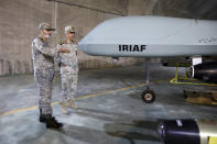
[[35, 80], [40, 89], [39, 108], [41, 114], [52, 114], [52, 82], [54, 69], [45, 68], [35, 70]]

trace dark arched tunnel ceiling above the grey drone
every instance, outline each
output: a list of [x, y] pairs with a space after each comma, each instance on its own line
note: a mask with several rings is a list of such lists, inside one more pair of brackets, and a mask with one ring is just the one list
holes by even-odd
[[117, 15], [165, 15], [217, 20], [217, 0], [47, 0]]

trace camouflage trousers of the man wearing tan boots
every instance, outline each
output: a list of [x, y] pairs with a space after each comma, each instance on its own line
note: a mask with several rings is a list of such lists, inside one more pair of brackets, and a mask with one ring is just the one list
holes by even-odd
[[74, 100], [77, 93], [77, 77], [78, 70], [72, 67], [61, 67], [61, 77], [62, 77], [62, 91], [61, 97], [62, 101], [66, 102], [67, 100]]

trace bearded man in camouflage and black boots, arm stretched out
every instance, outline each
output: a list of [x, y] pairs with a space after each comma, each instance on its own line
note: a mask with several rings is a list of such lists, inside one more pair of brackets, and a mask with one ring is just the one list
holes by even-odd
[[69, 53], [68, 49], [52, 48], [48, 45], [48, 37], [51, 37], [51, 29], [48, 23], [41, 23], [40, 35], [32, 42], [32, 58], [34, 66], [34, 78], [40, 88], [40, 122], [46, 124], [46, 128], [61, 128], [62, 123], [58, 123], [54, 117], [52, 117], [52, 81], [54, 78], [54, 57], [59, 53]]

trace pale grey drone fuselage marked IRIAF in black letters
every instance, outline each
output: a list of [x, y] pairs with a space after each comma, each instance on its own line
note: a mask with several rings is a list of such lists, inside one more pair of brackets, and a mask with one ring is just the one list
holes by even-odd
[[217, 21], [122, 16], [90, 31], [79, 47], [98, 56], [175, 57], [217, 55]]

